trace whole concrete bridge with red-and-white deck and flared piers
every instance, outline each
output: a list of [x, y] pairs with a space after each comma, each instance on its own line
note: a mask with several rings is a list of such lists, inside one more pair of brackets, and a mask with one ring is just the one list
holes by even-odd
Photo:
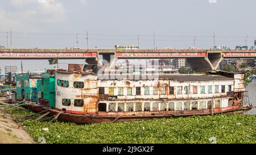
[[209, 49], [0, 49], [0, 59], [84, 59], [96, 64], [99, 56], [112, 64], [117, 59], [186, 58], [196, 72], [216, 70], [223, 58], [256, 58], [256, 50], [213, 51]]

